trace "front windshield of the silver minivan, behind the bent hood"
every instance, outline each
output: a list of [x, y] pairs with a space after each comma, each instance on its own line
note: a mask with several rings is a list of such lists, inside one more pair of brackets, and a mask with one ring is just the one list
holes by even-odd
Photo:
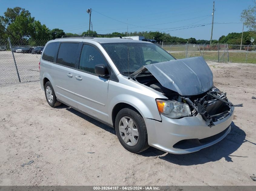
[[175, 59], [165, 50], [152, 43], [102, 43], [102, 46], [119, 72], [126, 76], [128, 76], [128, 73], [132, 74], [144, 65]]

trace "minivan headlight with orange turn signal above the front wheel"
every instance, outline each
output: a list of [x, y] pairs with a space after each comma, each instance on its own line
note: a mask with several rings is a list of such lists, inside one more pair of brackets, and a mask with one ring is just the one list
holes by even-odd
[[156, 103], [159, 113], [169, 118], [177, 119], [191, 114], [190, 108], [186, 103], [174, 100], [156, 100]]

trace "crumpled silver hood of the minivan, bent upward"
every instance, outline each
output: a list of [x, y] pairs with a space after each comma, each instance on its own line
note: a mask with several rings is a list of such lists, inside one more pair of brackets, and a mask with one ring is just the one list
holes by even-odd
[[213, 86], [211, 69], [201, 56], [145, 65], [131, 77], [147, 70], [162, 86], [182, 96], [202, 94]]

